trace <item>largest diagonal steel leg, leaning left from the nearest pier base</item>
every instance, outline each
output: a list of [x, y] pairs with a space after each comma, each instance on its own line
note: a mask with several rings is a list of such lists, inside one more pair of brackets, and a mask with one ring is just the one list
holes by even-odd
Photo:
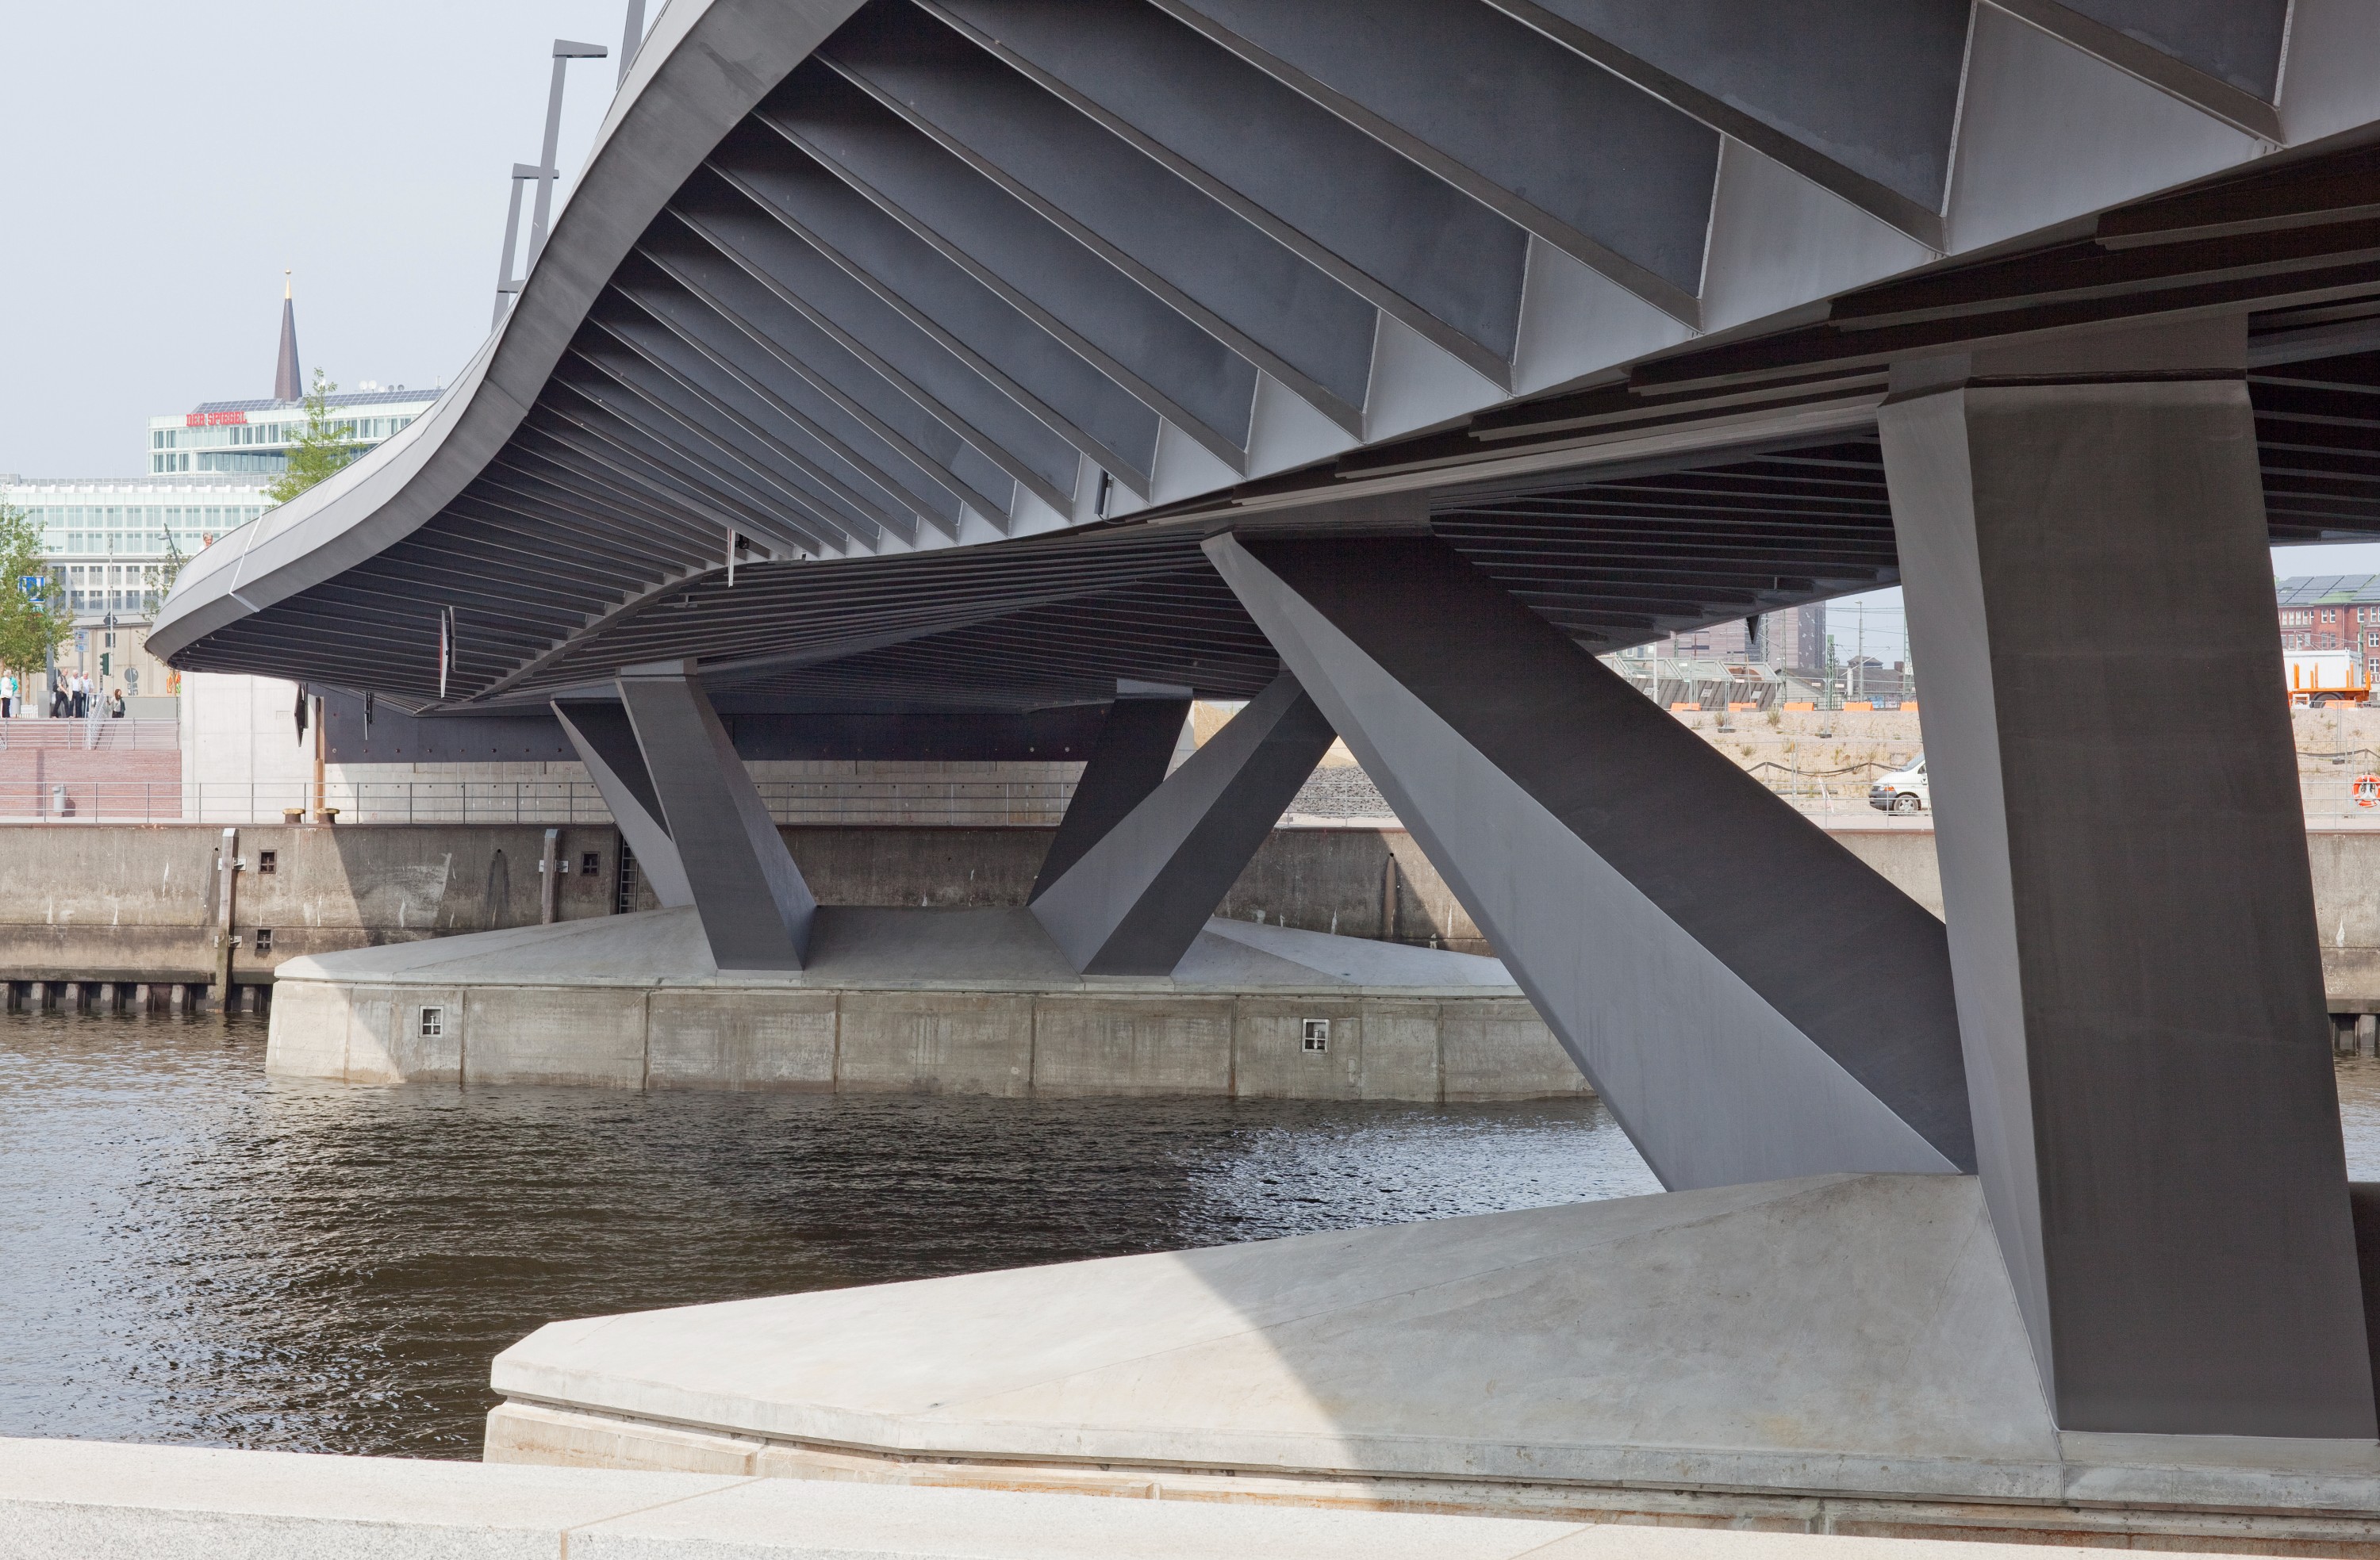
[[1923, 906], [1433, 537], [1207, 554], [1664, 1184], [1973, 1168]]

